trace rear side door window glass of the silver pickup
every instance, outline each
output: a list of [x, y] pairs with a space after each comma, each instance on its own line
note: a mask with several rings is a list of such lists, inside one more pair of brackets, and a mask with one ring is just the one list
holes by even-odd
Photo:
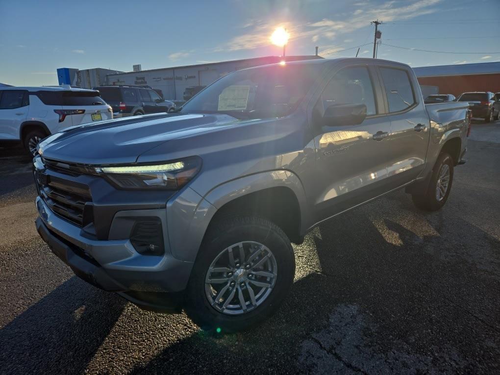
[[408, 73], [404, 69], [380, 67], [389, 112], [398, 112], [409, 108], [415, 103], [413, 89]]

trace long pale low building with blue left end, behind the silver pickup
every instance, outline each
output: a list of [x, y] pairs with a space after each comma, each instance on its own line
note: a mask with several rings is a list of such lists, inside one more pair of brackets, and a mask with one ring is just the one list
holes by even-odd
[[95, 69], [57, 69], [59, 84], [70, 84], [84, 88], [104, 84], [133, 84], [159, 89], [165, 99], [182, 100], [182, 94], [189, 86], [206, 86], [215, 79], [235, 70], [247, 67], [272, 64], [280, 61], [309, 60], [323, 58], [318, 55], [303, 56], [266, 56], [241, 60], [210, 62], [196, 65], [173, 66], [159, 69], [137, 71], [116, 71], [102, 68]]

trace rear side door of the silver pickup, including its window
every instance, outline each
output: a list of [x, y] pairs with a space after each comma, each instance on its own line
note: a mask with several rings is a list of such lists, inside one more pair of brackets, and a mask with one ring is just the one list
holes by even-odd
[[387, 174], [395, 188], [416, 178], [423, 170], [430, 123], [415, 75], [407, 68], [384, 63], [377, 65], [390, 121], [390, 160]]

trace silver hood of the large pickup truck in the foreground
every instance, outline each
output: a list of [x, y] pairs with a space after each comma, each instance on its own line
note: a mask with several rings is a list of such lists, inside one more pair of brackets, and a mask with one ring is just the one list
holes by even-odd
[[133, 163], [163, 142], [234, 126], [225, 114], [173, 113], [101, 121], [72, 127], [42, 140], [46, 158], [84, 164]]

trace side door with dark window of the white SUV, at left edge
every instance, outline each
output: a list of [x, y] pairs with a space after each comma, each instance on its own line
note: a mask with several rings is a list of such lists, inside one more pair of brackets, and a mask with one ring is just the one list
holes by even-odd
[[26, 90], [0, 91], [0, 139], [19, 139], [19, 129], [28, 113]]

